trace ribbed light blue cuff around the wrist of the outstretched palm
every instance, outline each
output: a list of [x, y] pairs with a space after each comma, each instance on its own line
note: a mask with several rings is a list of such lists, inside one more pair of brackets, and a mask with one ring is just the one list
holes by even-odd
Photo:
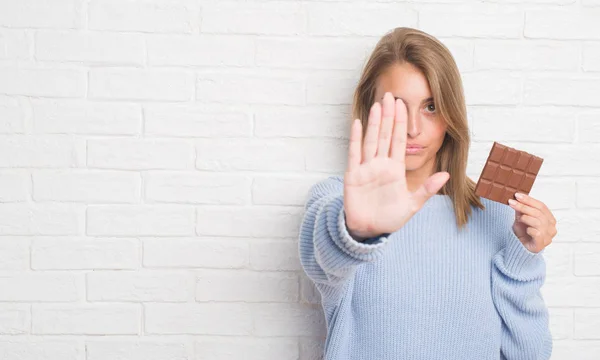
[[346, 226], [343, 196], [334, 198], [327, 205], [327, 228], [335, 244], [346, 254], [365, 261], [375, 259], [381, 254], [389, 241], [389, 233], [359, 242], [350, 236]]

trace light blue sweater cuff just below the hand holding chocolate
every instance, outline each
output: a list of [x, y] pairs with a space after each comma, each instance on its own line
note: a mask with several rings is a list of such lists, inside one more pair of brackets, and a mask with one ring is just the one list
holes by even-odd
[[513, 278], [529, 281], [543, 277], [545, 274], [544, 250], [534, 253], [529, 251], [512, 231], [504, 249], [504, 266]]

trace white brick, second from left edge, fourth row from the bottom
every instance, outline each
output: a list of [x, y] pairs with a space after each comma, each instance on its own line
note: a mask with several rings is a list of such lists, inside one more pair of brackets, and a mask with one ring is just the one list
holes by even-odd
[[136, 269], [140, 266], [136, 239], [36, 238], [31, 245], [34, 270]]

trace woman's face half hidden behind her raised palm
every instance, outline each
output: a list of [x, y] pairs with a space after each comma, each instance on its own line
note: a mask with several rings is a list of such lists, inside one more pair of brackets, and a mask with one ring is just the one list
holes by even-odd
[[[444, 141], [446, 123], [437, 113], [427, 79], [412, 64], [395, 64], [377, 79], [375, 101], [381, 103], [388, 91], [406, 105], [406, 170], [428, 167], [427, 171], [432, 172], [435, 154]], [[423, 148], [411, 151], [411, 145]]]

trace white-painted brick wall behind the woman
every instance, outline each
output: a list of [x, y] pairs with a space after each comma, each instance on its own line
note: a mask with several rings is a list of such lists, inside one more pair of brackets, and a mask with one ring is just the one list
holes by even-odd
[[599, 19], [598, 0], [0, 0], [2, 359], [320, 359], [302, 207], [344, 171], [352, 90], [396, 26], [458, 63], [469, 176], [493, 141], [545, 158], [552, 358], [600, 358]]

